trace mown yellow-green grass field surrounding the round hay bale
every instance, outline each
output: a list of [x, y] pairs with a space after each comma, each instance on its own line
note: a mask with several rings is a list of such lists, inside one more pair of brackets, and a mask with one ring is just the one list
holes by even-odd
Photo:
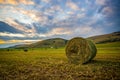
[[96, 46], [84, 65], [69, 63], [64, 48], [1, 49], [0, 80], [120, 80], [120, 42]]

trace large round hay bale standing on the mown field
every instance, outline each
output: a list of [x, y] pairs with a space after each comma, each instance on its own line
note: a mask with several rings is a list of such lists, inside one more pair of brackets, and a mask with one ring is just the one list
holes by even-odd
[[71, 39], [66, 46], [66, 56], [72, 63], [87, 63], [96, 56], [96, 52], [94, 43], [81, 37]]

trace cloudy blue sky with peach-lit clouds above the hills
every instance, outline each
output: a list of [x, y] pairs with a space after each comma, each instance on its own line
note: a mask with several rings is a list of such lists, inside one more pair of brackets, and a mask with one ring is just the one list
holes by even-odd
[[0, 0], [0, 21], [1, 43], [86, 38], [120, 31], [120, 0]]

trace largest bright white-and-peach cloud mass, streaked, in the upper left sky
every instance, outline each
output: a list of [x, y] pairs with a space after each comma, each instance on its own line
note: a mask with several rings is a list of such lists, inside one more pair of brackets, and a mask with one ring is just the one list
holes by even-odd
[[[47, 16], [44, 16], [43, 13], [38, 11], [14, 8], [12, 6], [9, 7], [9, 10], [7, 9], [8, 6], [1, 8], [0, 20], [8, 23], [23, 33], [36, 33], [33, 23], [39, 22], [41, 25], [44, 25], [48, 20]], [[4, 13], [6, 15], [4, 15]]]

